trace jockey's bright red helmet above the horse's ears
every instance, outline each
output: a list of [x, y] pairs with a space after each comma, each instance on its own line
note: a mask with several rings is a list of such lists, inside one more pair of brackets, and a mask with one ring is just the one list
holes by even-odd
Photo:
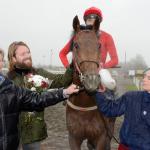
[[97, 15], [99, 18], [103, 19], [102, 11], [96, 7], [90, 7], [85, 10], [84, 16], [83, 16], [84, 20], [86, 20], [87, 16], [89, 15]]

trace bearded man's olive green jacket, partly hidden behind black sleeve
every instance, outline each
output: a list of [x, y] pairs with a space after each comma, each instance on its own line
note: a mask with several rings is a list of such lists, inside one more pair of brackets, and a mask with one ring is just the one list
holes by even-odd
[[[14, 67], [14, 70], [9, 71], [7, 76], [13, 81], [13, 83], [15, 83], [15, 85], [28, 88], [24, 80], [24, 77], [28, 74], [41, 75], [45, 78], [48, 78], [49, 80], [53, 80], [49, 88], [60, 88], [70, 85], [68, 84], [69, 78], [65, 74], [56, 75], [42, 68], [23, 69]], [[32, 115], [31, 112], [21, 112], [19, 116], [18, 128], [20, 143], [22, 145], [44, 140], [47, 137], [47, 127], [44, 119], [44, 111], [34, 111]]]

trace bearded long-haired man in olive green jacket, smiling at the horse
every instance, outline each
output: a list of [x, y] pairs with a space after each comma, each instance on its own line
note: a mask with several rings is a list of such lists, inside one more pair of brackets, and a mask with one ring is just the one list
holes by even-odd
[[[10, 44], [8, 60], [8, 77], [18, 86], [25, 87], [24, 77], [28, 74], [38, 74], [52, 80], [50, 88], [66, 87], [71, 82], [68, 76], [55, 75], [44, 69], [34, 68], [30, 48], [22, 41]], [[30, 119], [28, 118], [29, 116]], [[44, 111], [22, 112], [19, 129], [23, 150], [40, 150], [40, 141], [47, 137]]]

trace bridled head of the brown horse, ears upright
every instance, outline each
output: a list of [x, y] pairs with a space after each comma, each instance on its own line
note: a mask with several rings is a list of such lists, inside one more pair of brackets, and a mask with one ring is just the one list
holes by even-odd
[[88, 92], [95, 91], [100, 84], [99, 62], [100, 44], [97, 31], [99, 19], [93, 26], [81, 28], [78, 17], [73, 19], [75, 38], [73, 40], [73, 62], [79, 74], [80, 82]]

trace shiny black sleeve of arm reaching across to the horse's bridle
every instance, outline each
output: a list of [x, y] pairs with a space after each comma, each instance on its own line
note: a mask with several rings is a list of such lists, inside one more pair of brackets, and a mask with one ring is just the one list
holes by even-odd
[[65, 99], [63, 97], [63, 89], [56, 89], [50, 92], [38, 94], [15, 85], [14, 88], [20, 111], [40, 111], [45, 107], [55, 105]]

